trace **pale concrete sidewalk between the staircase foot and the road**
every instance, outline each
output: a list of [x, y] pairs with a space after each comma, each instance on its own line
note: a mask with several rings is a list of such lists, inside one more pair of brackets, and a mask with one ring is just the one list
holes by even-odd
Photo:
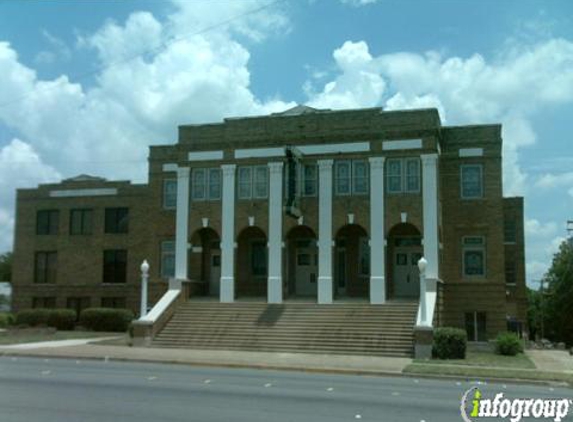
[[[99, 345], [73, 345], [61, 342], [36, 343], [29, 348], [0, 346], [0, 355], [70, 359], [111, 359], [122, 361], [178, 363], [199, 366], [225, 366], [260, 369], [283, 369], [349, 374], [401, 375], [412, 362], [410, 358], [320, 355], [312, 353], [270, 353], [226, 350], [160, 349]], [[91, 340], [90, 340], [91, 341]], [[55, 345], [53, 343], [61, 343]]]

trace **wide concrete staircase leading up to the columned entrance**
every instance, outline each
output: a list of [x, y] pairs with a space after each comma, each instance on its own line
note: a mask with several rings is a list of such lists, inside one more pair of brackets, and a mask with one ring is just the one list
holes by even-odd
[[154, 347], [412, 356], [417, 302], [218, 303], [189, 301]]

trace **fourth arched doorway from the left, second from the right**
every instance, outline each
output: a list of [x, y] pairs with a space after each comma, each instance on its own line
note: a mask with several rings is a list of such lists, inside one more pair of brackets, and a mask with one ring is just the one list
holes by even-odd
[[369, 281], [368, 233], [358, 224], [347, 224], [338, 230], [335, 238], [334, 294], [367, 298]]

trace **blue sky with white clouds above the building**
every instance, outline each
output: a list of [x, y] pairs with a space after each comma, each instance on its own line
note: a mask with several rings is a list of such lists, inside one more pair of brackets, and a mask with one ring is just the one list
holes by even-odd
[[0, 252], [16, 188], [145, 182], [177, 125], [295, 104], [501, 123], [537, 286], [573, 219], [569, 0], [0, 0]]

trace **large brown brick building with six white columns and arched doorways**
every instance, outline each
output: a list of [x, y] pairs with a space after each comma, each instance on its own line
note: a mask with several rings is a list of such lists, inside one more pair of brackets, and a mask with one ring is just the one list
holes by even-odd
[[418, 300], [492, 338], [525, 322], [522, 198], [502, 192], [500, 125], [435, 109], [317, 110], [184, 125], [147, 184], [79, 176], [20, 189], [13, 304], [139, 307], [190, 283], [221, 302]]

